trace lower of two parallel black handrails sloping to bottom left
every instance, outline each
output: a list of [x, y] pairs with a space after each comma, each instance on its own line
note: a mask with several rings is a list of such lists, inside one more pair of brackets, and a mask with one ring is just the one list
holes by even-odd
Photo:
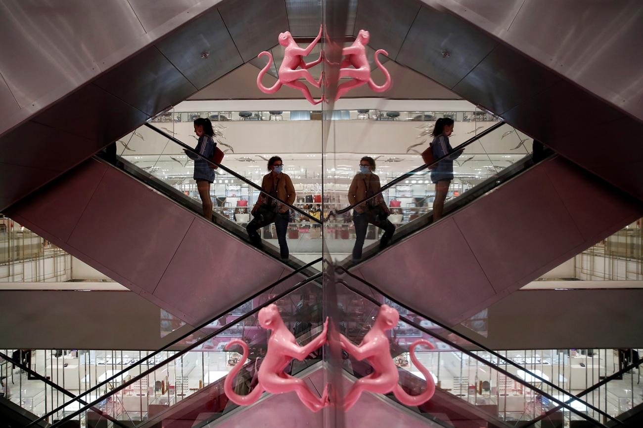
[[61, 424], [63, 424], [64, 422], [66, 422], [68, 420], [71, 420], [72, 418], [74, 418], [77, 415], [80, 415], [80, 413], [86, 411], [89, 407], [96, 406], [96, 404], [102, 402], [103, 400], [107, 399], [108, 397], [111, 397], [112, 395], [118, 393], [119, 391], [122, 391], [123, 389], [127, 388], [128, 386], [130, 386], [134, 382], [138, 382], [143, 377], [149, 375], [152, 372], [155, 372], [156, 370], [158, 370], [158, 368], [161, 368], [161, 367], [167, 365], [171, 361], [174, 361], [175, 359], [181, 357], [182, 355], [185, 355], [187, 352], [190, 352], [192, 349], [198, 347], [199, 345], [203, 345], [203, 343], [205, 343], [206, 341], [212, 339], [214, 336], [217, 336], [221, 332], [224, 332], [225, 330], [230, 329], [230, 327], [232, 327], [233, 325], [236, 325], [236, 324], [240, 323], [241, 321], [245, 320], [246, 318], [248, 318], [249, 316], [251, 316], [253, 314], [256, 314], [258, 311], [260, 311], [261, 309], [263, 309], [267, 305], [273, 304], [274, 302], [276, 302], [280, 298], [283, 298], [284, 296], [287, 296], [290, 293], [293, 293], [293, 291], [296, 291], [297, 289], [300, 289], [301, 287], [305, 286], [309, 282], [312, 282], [312, 281], [314, 281], [314, 280], [316, 280], [318, 278], [321, 278], [321, 275], [322, 275], [321, 272], [316, 273], [316, 274], [312, 275], [311, 277], [308, 277], [305, 280], [300, 281], [297, 284], [294, 284], [294, 286], [289, 287], [285, 291], [282, 291], [282, 293], [279, 293], [278, 295], [274, 296], [273, 298], [270, 298], [270, 299], [266, 300], [266, 302], [264, 302], [261, 305], [258, 305], [255, 309], [252, 309], [251, 311], [248, 311], [246, 314], [240, 316], [239, 318], [230, 321], [229, 323], [227, 323], [226, 325], [222, 326], [221, 328], [219, 328], [219, 329], [213, 331], [212, 333], [208, 334], [203, 339], [199, 339], [199, 340], [195, 341], [194, 343], [192, 343], [192, 345], [180, 350], [179, 352], [177, 352], [176, 354], [174, 354], [174, 355], [172, 355], [170, 357], [167, 357], [165, 360], [161, 361], [160, 363], [155, 364], [154, 366], [152, 366], [151, 368], [148, 368], [144, 372], [141, 372], [138, 375], [132, 377], [129, 381], [123, 382], [122, 384], [120, 384], [116, 388], [111, 389], [111, 391], [109, 391], [105, 395], [102, 395], [101, 397], [96, 398], [96, 400], [94, 400], [93, 402], [89, 403], [89, 405], [87, 405], [85, 407], [82, 407], [82, 408], [78, 409], [77, 411], [74, 411], [73, 413], [71, 413], [71, 415], [65, 416], [64, 418], [60, 419], [58, 422], [55, 422], [55, 424], [51, 425], [50, 428], [58, 427]]

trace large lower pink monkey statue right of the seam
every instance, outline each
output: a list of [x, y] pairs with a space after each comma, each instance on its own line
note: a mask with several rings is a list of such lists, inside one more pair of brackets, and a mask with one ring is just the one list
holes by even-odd
[[[361, 31], [360, 31], [361, 32]], [[375, 320], [375, 325], [368, 330], [359, 346], [354, 345], [343, 334], [340, 334], [341, 347], [358, 360], [366, 359], [373, 368], [373, 373], [358, 379], [350, 388], [349, 393], [344, 397], [344, 410], [347, 411], [359, 399], [363, 391], [386, 394], [393, 392], [395, 398], [407, 406], [419, 406], [427, 402], [435, 393], [435, 382], [433, 376], [415, 357], [415, 347], [426, 345], [431, 349], [433, 345], [425, 340], [419, 339], [412, 343], [409, 351], [411, 361], [420, 370], [426, 379], [426, 390], [420, 395], [409, 395], [397, 383], [399, 375], [397, 366], [391, 357], [390, 343], [385, 331], [393, 329], [399, 321], [399, 314], [389, 305], [382, 305]]]

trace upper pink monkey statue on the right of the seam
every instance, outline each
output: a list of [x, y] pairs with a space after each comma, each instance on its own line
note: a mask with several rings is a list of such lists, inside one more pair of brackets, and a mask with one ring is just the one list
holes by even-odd
[[[378, 86], [372, 78], [370, 78], [370, 65], [368, 64], [366, 56], [366, 45], [368, 44], [368, 40], [370, 40], [370, 34], [368, 31], [359, 30], [358, 37], [355, 39], [353, 44], [342, 49], [341, 54], [344, 55], [344, 59], [340, 65], [340, 79], [352, 77], [354, 80], [341, 83], [341, 85], [338, 86], [335, 101], [340, 99], [340, 97], [346, 92], [349, 92], [349, 90], [364, 85], [365, 83], [368, 83], [370, 89], [375, 92], [384, 92], [391, 87], [391, 75], [379, 62], [379, 59], [377, 59], [377, 55], [380, 53], [388, 56], [388, 52], [384, 49], [377, 49], [375, 53], [375, 63], [386, 76], [386, 81], [384, 85]], [[355, 68], [350, 67], [350, 65]]]

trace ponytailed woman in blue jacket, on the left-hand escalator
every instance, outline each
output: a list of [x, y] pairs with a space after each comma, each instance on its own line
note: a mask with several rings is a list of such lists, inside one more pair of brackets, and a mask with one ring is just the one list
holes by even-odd
[[203, 205], [203, 216], [212, 221], [212, 199], [210, 199], [210, 184], [214, 182], [214, 170], [206, 159], [212, 159], [214, 148], [214, 130], [212, 122], [205, 117], [199, 117], [194, 121], [194, 133], [199, 137], [197, 147], [194, 149], [199, 153], [195, 155], [191, 151], [184, 150], [190, 159], [194, 159], [194, 180], [197, 182], [197, 190]]

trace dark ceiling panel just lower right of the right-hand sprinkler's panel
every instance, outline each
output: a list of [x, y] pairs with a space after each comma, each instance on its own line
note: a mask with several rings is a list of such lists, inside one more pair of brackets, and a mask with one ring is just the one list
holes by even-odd
[[[498, 45], [453, 91], [496, 114], [551, 87], [560, 78], [509, 47]], [[527, 101], [529, 102], [529, 101]]]

